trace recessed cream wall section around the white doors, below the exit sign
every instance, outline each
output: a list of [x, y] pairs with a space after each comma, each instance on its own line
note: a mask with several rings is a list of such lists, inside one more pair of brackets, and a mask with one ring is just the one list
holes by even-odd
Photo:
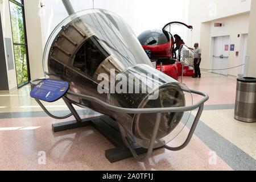
[[[236, 51], [240, 51], [241, 36], [238, 38], [238, 34], [247, 34], [249, 30], [249, 13], [242, 13], [239, 15], [229, 16], [227, 18], [221, 18], [210, 22], [202, 23], [200, 43], [203, 49], [203, 61], [201, 68], [212, 69], [212, 53], [210, 53], [211, 38], [216, 36], [230, 36], [230, 44], [235, 44], [234, 51], [229, 51], [229, 64], [228, 68], [233, 68], [239, 65], [239, 56], [236, 56]], [[223, 23], [222, 27], [214, 27], [214, 23]], [[230, 47], [229, 47], [230, 48]], [[213, 50], [212, 50], [213, 51]], [[241, 52], [240, 52], [241, 53]], [[209, 60], [209, 61], [208, 61]], [[229, 69], [228, 75], [237, 76], [238, 68]]]

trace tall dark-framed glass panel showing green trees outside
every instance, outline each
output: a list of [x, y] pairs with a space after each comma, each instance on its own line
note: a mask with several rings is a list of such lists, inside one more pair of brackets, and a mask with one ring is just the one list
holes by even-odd
[[10, 0], [11, 29], [18, 88], [30, 81], [23, 0]]

